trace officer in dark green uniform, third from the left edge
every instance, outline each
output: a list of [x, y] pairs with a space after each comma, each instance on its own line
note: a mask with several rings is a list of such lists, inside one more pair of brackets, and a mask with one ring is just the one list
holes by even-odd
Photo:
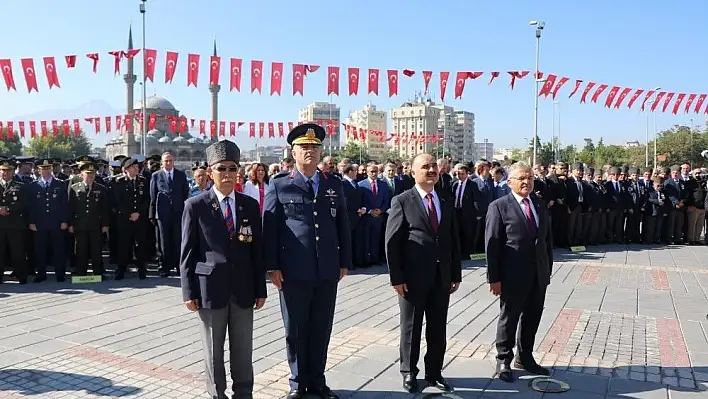
[[83, 161], [82, 181], [69, 189], [69, 232], [76, 242], [76, 273], [85, 276], [88, 261], [95, 275], [103, 275], [102, 233], [108, 232], [108, 190], [95, 181], [96, 165]]

